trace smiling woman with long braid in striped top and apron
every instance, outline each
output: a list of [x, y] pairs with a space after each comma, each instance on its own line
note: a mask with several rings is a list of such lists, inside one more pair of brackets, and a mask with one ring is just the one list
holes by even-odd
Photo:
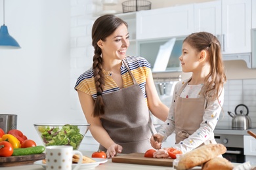
[[77, 79], [75, 90], [90, 131], [108, 158], [117, 153], [146, 152], [150, 144], [149, 110], [165, 121], [169, 109], [161, 103], [150, 63], [126, 56], [127, 23], [114, 15], [96, 19], [92, 30], [93, 67]]

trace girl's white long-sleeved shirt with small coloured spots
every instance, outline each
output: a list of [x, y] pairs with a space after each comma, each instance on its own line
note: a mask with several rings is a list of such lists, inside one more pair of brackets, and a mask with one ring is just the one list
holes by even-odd
[[[167, 120], [164, 122], [164, 124], [160, 127], [160, 130], [158, 131], [158, 134], [163, 135], [163, 141], [165, 141], [167, 137], [171, 135], [173, 131], [175, 131], [175, 93], [179, 92], [181, 86], [182, 81], [176, 84]], [[200, 97], [199, 93], [202, 90], [202, 86], [203, 84], [186, 85], [180, 97], [198, 98]], [[177, 148], [179, 150], [182, 150], [183, 153], [186, 153], [189, 152], [190, 150], [193, 150], [194, 148], [197, 148], [198, 146], [200, 146], [200, 144], [205, 143], [205, 141], [209, 140], [209, 138], [205, 138], [205, 136], [209, 137], [213, 135], [213, 130], [215, 129], [215, 126], [219, 120], [219, 116], [222, 110], [223, 101], [224, 89], [222, 90], [222, 93], [219, 96], [219, 101], [217, 99], [215, 101], [208, 101], [207, 107], [203, 114], [203, 121], [200, 124], [199, 129], [197, 129], [192, 135], [190, 135], [190, 137], [184, 139], [184, 141], [182, 141], [182, 144], [179, 143], [173, 146], [171, 146], [170, 144], [170, 147]], [[193, 112], [193, 110], [191, 110], [191, 112]], [[203, 123], [205, 121], [207, 121], [207, 124]]]

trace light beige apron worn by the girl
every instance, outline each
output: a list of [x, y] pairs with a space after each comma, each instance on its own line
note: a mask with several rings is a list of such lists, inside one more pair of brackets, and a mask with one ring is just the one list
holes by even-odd
[[[174, 114], [176, 144], [188, 138], [200, 127], [200, 124], [203, 121], [204, 110], [207, 105], [207, 99], [203, 96], [204, 88], [202, 88], [199, 98], [180, 97], [182, 91], [190, 80], [191, 78], [187, 82], [184, 82], [181, 89], [176, 94]], [[213, 133], [209, 137], [209, 140], [205, 141], [204, 144], [207, 143], [216, 143]]]

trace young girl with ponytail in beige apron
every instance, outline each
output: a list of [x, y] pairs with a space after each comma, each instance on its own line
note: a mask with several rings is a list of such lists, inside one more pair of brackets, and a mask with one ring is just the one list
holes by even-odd
[[[221, 44], [211, 33], [186, 37], [179, 59], [182, 71], [192, 76], [176, 84], [167, 120], [150, 142], [160, 149], [161, 142], [175, 131], [176, 143], [171, 147], [184, 154], [202, 144], [216, 143], [213, 130], [223, 106], [226, 75]], [[168, 149], [161, 148], [154, 157], [167, 158]]]

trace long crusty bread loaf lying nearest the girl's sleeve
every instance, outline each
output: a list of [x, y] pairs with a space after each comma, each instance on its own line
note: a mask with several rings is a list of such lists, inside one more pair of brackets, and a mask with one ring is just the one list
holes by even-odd
[[224, 154], [225, 152], [226, 147], [223, 144], [205, 144], [183, 154], [179, 158], [179, 163], [176, 168], [181, 170], [201, 166], [206, 161]]

